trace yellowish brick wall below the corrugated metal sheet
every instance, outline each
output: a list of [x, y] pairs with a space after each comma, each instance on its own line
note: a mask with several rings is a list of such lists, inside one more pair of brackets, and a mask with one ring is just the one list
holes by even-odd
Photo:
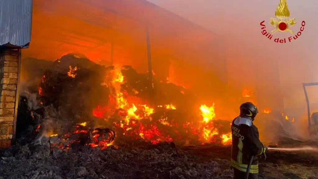
[[19, 50], [0, 49], [0, 148], [11, 146], [15, 134]]

